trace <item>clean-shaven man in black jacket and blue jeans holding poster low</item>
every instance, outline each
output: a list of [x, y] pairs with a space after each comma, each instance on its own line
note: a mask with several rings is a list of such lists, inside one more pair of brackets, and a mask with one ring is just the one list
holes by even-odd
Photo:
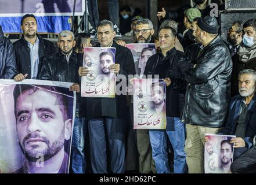
[[[149, 130], [152, 156], [156, 163], [157, 173], [171, 172], [168, 161], [167, 139], [170, 140], [174, 148], [174, 173], [186, 173], [185, 125], [179, 118], [185, 82], [182, 80], [182, 74], [177, 69], [183, 53], [174, 47], [177, 39], [176, 35], [176, 31], [171, 27], [160, 29], [158, 38], [161, 51], [149, 58], [144, 72], [146, 76], [153, 75], [153, 78], [164, 79], [167, 84], [167, 127], [166, 129]], [[141, 141], [138, 140], [138, 145], [139, 142]]]

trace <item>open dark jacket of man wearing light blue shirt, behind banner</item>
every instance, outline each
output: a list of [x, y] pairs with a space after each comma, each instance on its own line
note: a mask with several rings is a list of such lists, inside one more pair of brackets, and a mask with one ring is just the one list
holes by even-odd
[[[41, 71], [42, 61], [45, 56], [55, 53], [55, 47], [53, 43], [49, 40], [43, 39], [41, 36], [37, 35], [39, 39], [39, 65], [38, 65], [38, 75]], [[21, 39], [17, 40], [13, 44], [15, 48], [15, 56], [17, 62], [17, 68], [19, 73], [28, 74], [27, 79], [31, 78], [31, 60], [30, 60], [30, 48], [28, 47], [28, 42], [24, 39], [24, 36]]]

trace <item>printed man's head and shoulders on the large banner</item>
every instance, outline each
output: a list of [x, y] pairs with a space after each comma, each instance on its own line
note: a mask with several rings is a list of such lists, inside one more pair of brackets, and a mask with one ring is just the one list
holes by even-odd
[[16, 85], [13, 96], [17, 137], [26, 157], [17, 173], [67, 173], [64, 142], [72, 131], [67, 97], [56, 87], [31, 85]]

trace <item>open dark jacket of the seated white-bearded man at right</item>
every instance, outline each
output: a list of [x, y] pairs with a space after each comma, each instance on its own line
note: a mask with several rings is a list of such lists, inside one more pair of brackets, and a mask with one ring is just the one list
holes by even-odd
[[[239, 119], [241, 103], [243, 102], [241, 95], [233, 97], [229, 103], [228, 118], [226, 125], [218, 132], [222, 135], [235, 135], [237, 120]], [[247, 147], [253, 146], [253, 138], [256, 135], [256, 96], [253, 97], [246, 114], [246, 134], [244, 141], [247, 143]]]

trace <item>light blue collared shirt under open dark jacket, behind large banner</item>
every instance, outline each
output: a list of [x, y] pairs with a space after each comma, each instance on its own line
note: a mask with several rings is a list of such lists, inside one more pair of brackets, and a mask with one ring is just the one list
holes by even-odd
[[30, 64], [31, 64], [31, 79], [37, 79], [38, 66], [39, 66], [39, 39], [35, 40], [34, 45], [27, 42], [30, 48]]

